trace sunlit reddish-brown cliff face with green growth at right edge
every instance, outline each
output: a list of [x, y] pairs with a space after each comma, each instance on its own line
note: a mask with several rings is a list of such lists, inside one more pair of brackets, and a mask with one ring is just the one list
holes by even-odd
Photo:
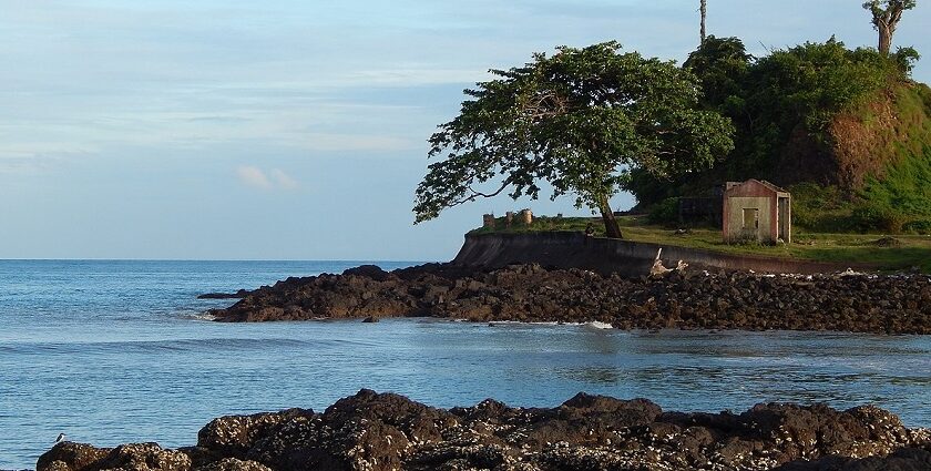
[[798, 184], [795, 222], [819, 232], [863, 227], [931, 233], [931, 89], [898, 85], [876, 101], [839, 114], [831, 125], [840, 172], [853, 197], [837, 187]]

